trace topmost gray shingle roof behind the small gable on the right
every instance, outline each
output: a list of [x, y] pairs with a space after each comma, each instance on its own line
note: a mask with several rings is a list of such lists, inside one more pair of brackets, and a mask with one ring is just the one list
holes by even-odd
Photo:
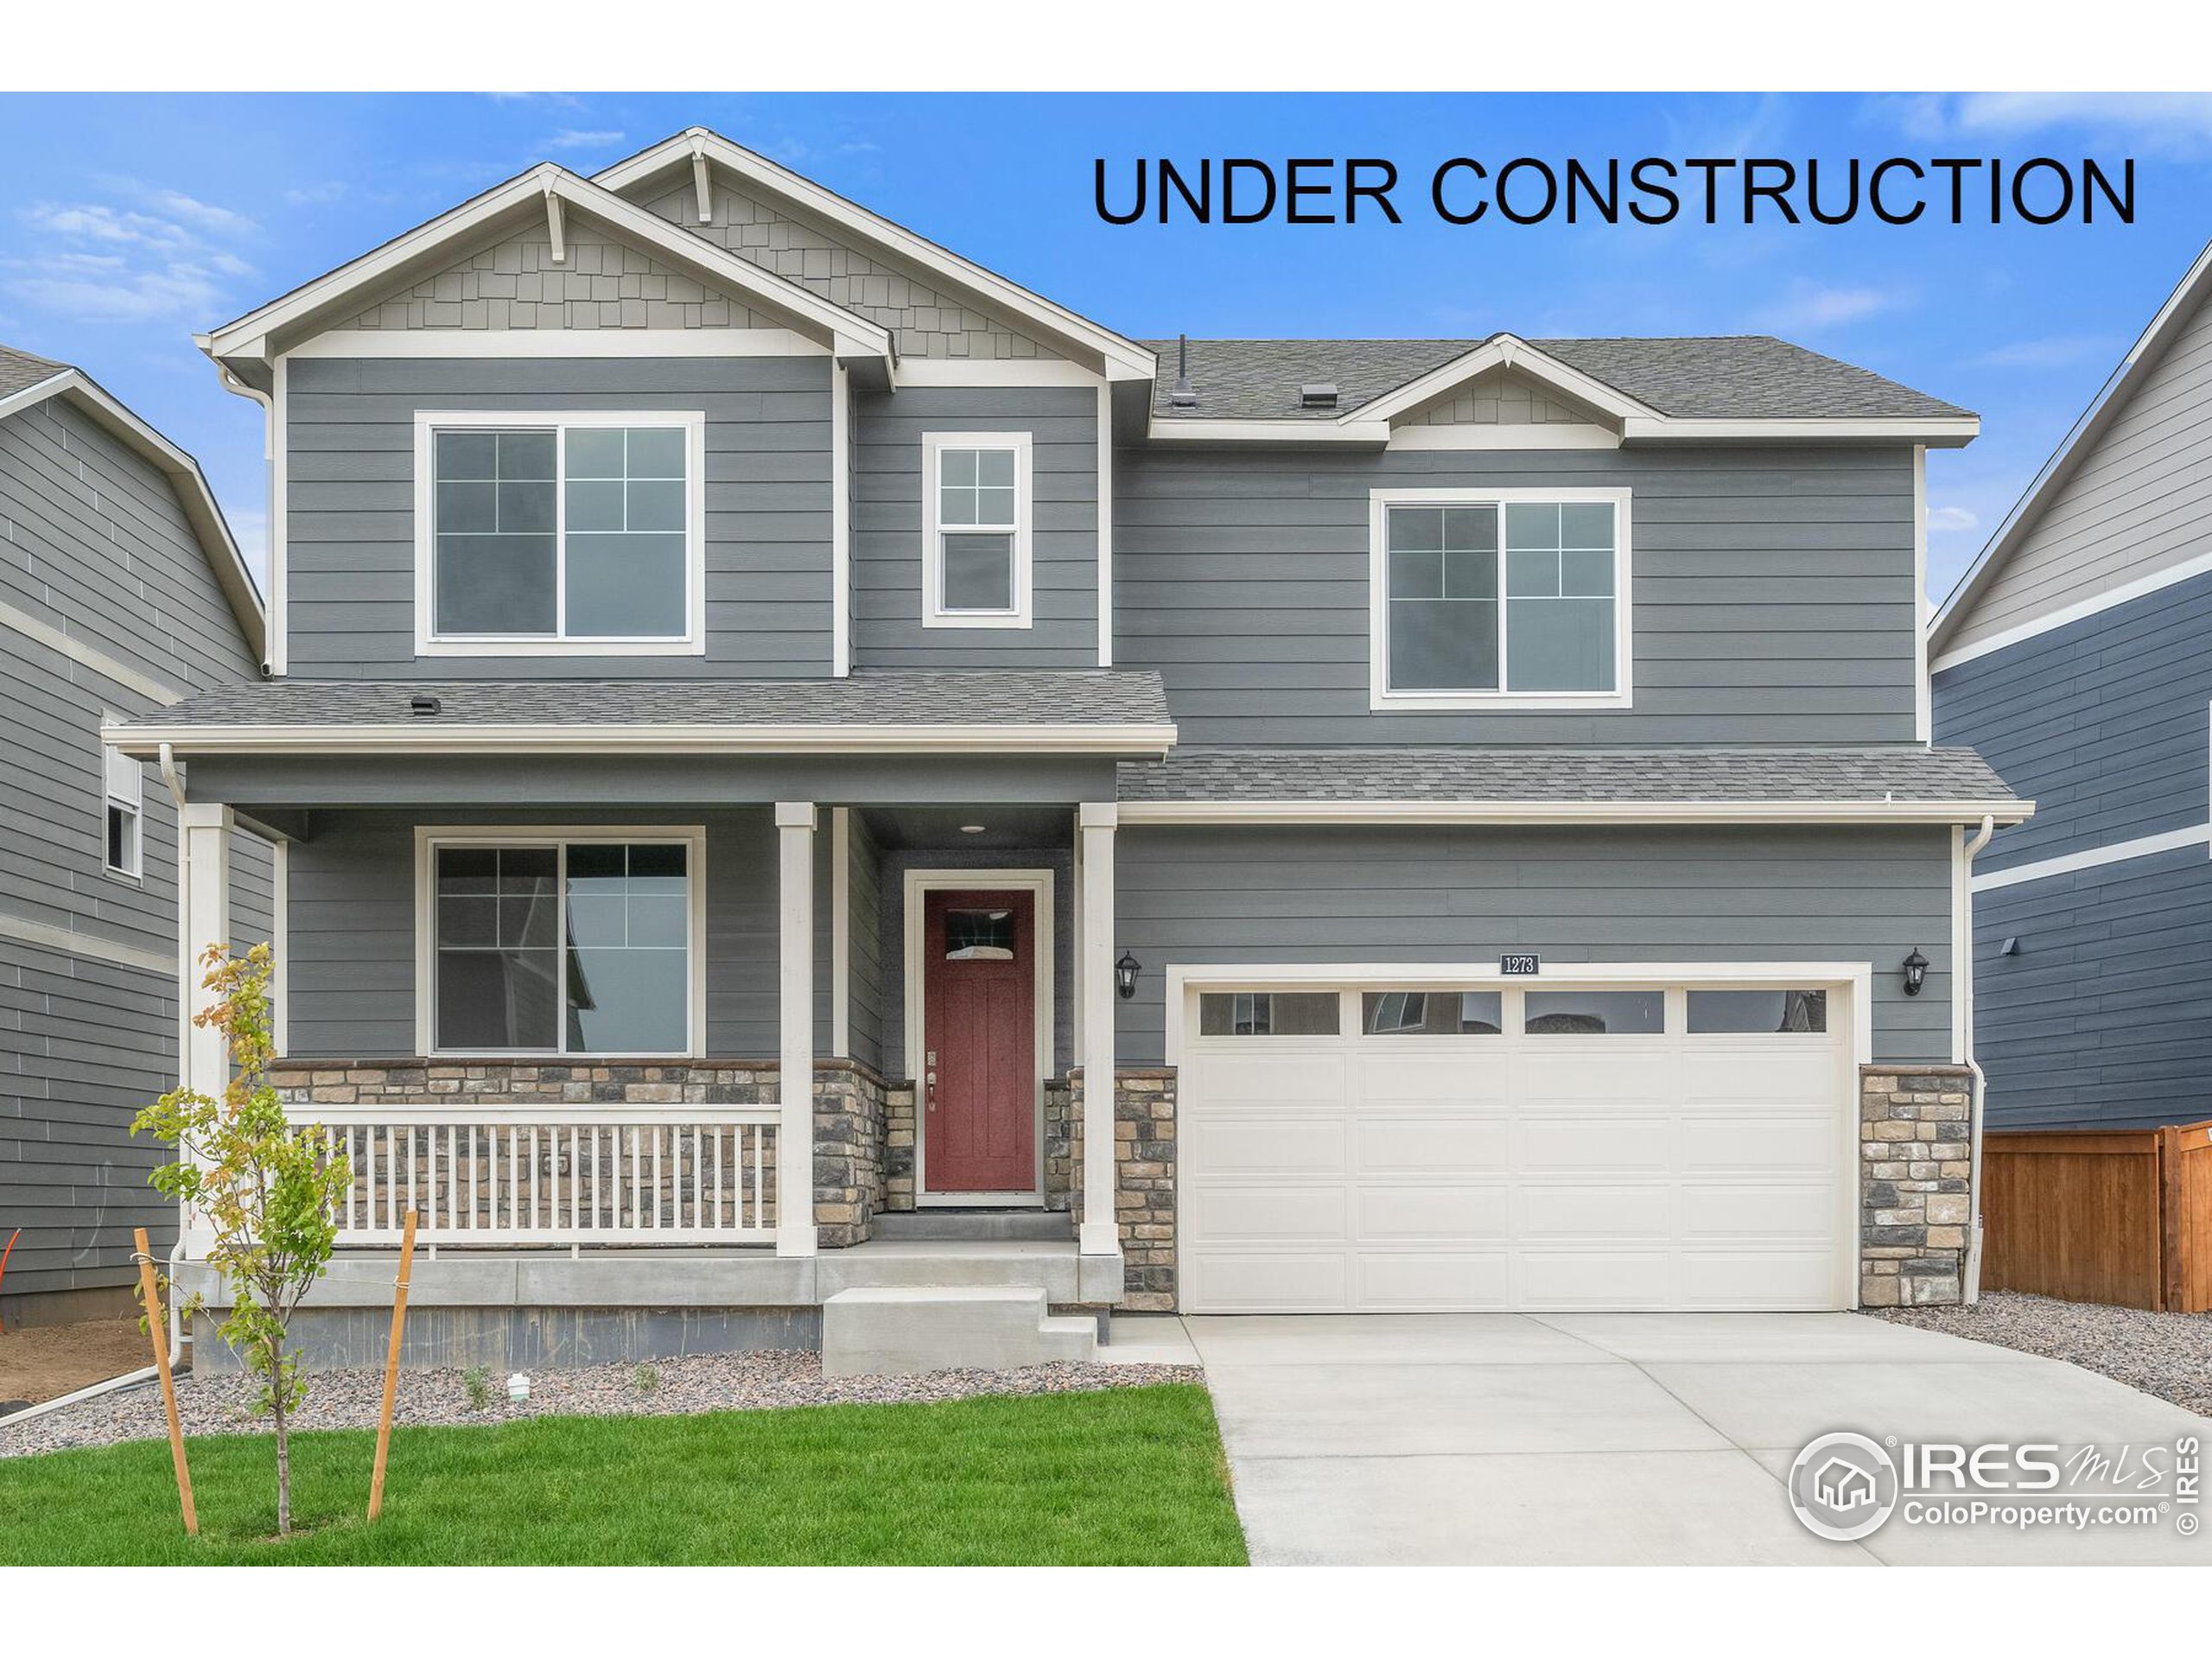
[[[1442, 367], [1482, 341], [1190, 341], [1197, 409], [1175, 409], [1175, 341], [1159, 354], [1152, 414], [1161, 420], [1334, 420]], [[1767, 334], [1688, 338], [1528, 341], [1546, 356], [1683, 420], [1958, 418], [1940, 398]], [[1298, 387], [1329, 383], [1334, 409], [1303, 409]]]

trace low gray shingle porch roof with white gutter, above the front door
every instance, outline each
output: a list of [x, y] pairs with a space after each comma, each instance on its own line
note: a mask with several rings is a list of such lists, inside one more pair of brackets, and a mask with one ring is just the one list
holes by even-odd
[[[411, 712], [411, 699], [438, 712]], [[925, 668], [847, 679], [274, 679], [217, 686], [111, 730], [126, 752], [847, 750], [1159, 754], [1168, 692], [1141, 668]]]

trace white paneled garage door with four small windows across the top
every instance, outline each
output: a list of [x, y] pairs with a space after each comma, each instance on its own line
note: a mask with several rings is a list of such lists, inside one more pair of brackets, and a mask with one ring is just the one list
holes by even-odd
[[1188, 1312], [1847, 1307], [1847, 991], [1201, 987]]

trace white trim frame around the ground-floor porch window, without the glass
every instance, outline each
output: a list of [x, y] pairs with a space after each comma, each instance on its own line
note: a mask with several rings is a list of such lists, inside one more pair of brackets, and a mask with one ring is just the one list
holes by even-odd
[[[575, 845], [611, 843], [661, 843], [686, 847], [684, 867], [688, 880], [688, 929], [686, 929], [686, 1018], [684, 1046], [672, 1051], [628, 1053], [628, 1051], [571, 1051], [560, 1048], [438, 1048], [438, 847], [557, 847], [562, 863], [555, 872], [555, 894], [566, 914], [566, 849]], [[568, 1004], [568, 951], [560, 947], [562, 964], [562, 1042], [566, 1042]], [[641, 825], [416, 825], [416, 1053], [429, 1057], [513, 1057], [513, 1060], [699, 1060], [706, 1055], [706, 825], [697, 823], [641, 823]]]

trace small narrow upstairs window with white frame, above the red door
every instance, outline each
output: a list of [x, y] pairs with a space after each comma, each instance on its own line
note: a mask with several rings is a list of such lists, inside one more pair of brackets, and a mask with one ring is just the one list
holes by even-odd
[[922, 438], [922, 626], [1029, 626], [1029, 434]]

